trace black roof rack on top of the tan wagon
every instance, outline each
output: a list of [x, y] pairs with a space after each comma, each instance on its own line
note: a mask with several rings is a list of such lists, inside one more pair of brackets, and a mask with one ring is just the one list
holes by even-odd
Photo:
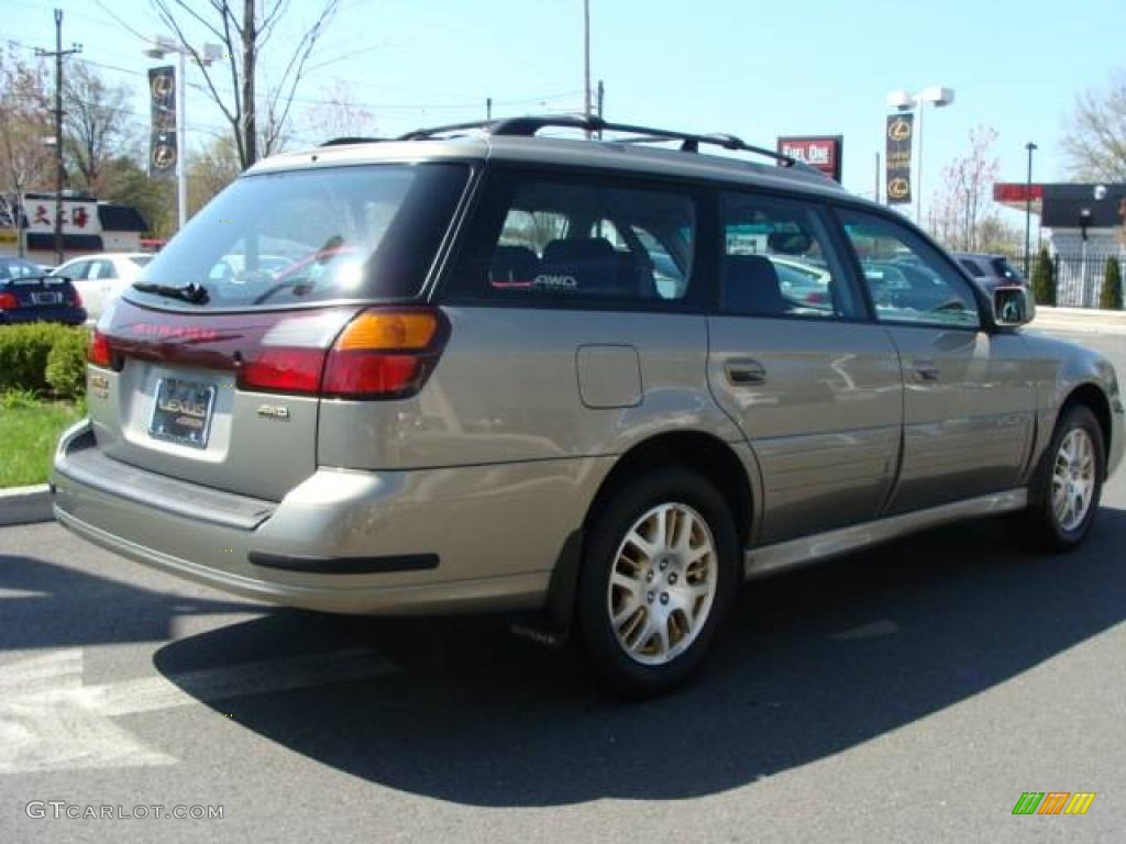
[[753, 144], [744, 143], [741, 138], [734, 135], [699, 135], [691, 132], [658, 129], [651, 126], [634, 126], [626, 123], [610, 123], [600, 117], [586, 117], [583, 115], [544, 115], [508, 117], [500, 120], [481, 120], [477, 123], [455, 123], [447, 126], [435, 126], [434, 128], [428, 129], [415, 129], [414, 132], [409, 132], [405, 135], [402, 135], [399, 140], [422, 141], [426, 138], [437, 137], [438, 135], [448, 135], [450, 133], [465, 132], [468, 129], [480, 129], [486, 135], [492, 136], [533, 137], [540, 129], [556, 127], [597, 132], [599, 134], [602, 132], [616, 132], [626, 135], [636, 135], [636, 137], [615, 138], [615, 141], [619, 143], [629, 144], [679, 141], [680, 150], [682, 152], [699, 152], [700, 144], [708, 144], [734, 152], [749, 152], [756, 155], [763, 155], [768, 159], [774, 159], [781, 167], [794, 168], [795, 170], [803, 172], [823, 176], [820, 170], [810, 167], [803, 161], [798, 161], [790, 155], [784, 155], [780, 152], [775, 152], [774, 150], [767, 150], [762, 146], [754, 146]]

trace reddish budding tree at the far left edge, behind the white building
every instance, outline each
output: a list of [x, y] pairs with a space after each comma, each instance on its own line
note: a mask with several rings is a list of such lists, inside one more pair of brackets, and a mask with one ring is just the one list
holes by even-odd
[[44, 143], [53, 134], [43, 66], [0, 48], [0, 216], [15, 227], [24, 194], [54, 189], [54, 147]]

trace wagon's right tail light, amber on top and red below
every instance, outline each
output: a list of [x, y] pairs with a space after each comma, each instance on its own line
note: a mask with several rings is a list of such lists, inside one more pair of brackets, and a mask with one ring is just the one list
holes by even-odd
[[365, 311], [340, 332], [324, 363], [321, 394], [402, 398], [421, 389], [447, 335], [437, 308]]

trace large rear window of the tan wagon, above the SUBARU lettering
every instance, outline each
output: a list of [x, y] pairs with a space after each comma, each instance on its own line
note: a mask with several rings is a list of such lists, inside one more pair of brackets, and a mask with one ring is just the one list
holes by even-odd
[[184, 305], [193, 309], [414, 298], [467, 176], [428, 163], [244, 177], [153, 258], [144, 281], [203, 285], [207, 300]]

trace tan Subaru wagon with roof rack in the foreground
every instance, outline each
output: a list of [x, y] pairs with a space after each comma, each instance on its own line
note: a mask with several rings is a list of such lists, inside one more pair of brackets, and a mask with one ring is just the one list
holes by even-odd
[[[785, 295], [797, 264], [816, 303]], [[256, 164], [102, 314], [55, 514], [250, 598], [535, 611], [652, 694], [744, 577], [984, 515], [1083, 541], [1123, 399], [1105, 358], [1020, 331], [1033, 307], [731, 136], [330, 144]]]

